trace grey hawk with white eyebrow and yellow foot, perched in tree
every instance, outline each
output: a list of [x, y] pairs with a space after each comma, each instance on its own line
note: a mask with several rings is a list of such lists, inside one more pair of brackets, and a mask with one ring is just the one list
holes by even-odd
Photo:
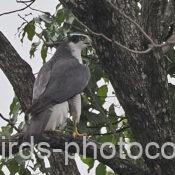
[[33, 87], [32, 106], [26, 114], [30, 123], [24, 138], [57, 128], [63, 130], [68, 112], [73, 117], [73, 136], [79, 135], [76, 125], [81, 115], [80, 93], [90, 79], [81, 51], [89, 45], [88, 36], [74, 33], [59, 44], [53, 57], [40, 69]]

